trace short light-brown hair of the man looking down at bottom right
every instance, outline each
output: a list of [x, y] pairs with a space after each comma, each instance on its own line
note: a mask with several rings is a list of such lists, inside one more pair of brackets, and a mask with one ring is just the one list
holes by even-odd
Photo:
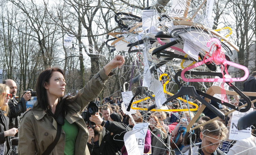
[[221, 140], [226, 139], [228, 130], [225, 124], [219, 120], [214, 120], [208, 124], [205, 124], [202, 129], [202, 134], [205, 136], [217, 136], [221, 137]]

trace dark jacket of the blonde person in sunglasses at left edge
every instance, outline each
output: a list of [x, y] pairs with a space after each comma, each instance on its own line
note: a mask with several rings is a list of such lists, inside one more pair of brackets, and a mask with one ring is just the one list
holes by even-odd
[[[9, 130], [9, 128], [8, 128], [9, 118], [4, 115], [5, 113], [6, 113], [5, 111], [0, 110], [0, 144], [3, 144], [5, 142], [4, 154], [6, 155], [10, 150], [11, 137], [12, 138], [16, 138], [16, 137], [13, 137], [13, 136], [4, 137], [4, 131]], [[12, 140], [12, 145], [15, 145], [15, 146], [18, 145], [18, 139], [17, 138], [15, 140]]]

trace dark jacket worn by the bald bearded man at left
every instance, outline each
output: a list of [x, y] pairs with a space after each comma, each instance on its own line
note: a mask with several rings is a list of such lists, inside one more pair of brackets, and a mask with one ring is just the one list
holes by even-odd
[[[19, 128], [20, 126], [20, 118], [19, 116], [26, 111], [26, 101], [22, 97], [18, 102], [16, 99], [10, 99], [8, 102], [10, 111], [8, 117], [9, 121], [9, 129]], [[16, 134], [17, 135], [17, 134]]]

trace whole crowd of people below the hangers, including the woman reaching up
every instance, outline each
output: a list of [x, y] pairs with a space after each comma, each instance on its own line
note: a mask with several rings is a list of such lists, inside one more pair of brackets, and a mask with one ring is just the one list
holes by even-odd
[[[31, 93], [24, 93], [20, 101], [17, 101], [14, 98], [17, 91], [15, 81], [5, 80], [0, 84], [0, 154], [128, 155], [124, 135], [132, 130], [135, 124], [142, 122], [149, 124], [144, 137], [145, 154], [256, 153], [256, 132], [253, 126], [249, 138], [236, 141], [229, 139], [232, 113], [227, 115], [225, 120], [212, 121], [211, 119], [217, 116], [206, 108], [193, 124], [193, 127], [200, 127], [187, 131], [187, 125], [197, 111], [179, 109], [194, 109], [195, 105], [173, 100], [167, 105], [172, 112], [146, 113], [137, 110], [136, 113], [127, 115], [121, 106], [122, 98], [109, 96], [101, 100], [98, 95], [112, 75], [111, 70], [123, 64], [124, 58], [117, 55], [79, 90], [76, 96], [66, 97], [62, 70], [46, 69], [38, 77], [37, 102], [29, 110], [25, 103], [31, 98]], [[253, 76], [256, 80], [256, 72]], [[252, 79], [249, 79], [252, 82]], [[87, 105], [93, 100], [97, 108], [90, 111]], [[192, 97], [190, 101], [197, 104], [198, 108], [202, 104]], [[154, 101], [149, 99], [138, 103], [137, 106], [145, 108], [152, 102]], [[211, 104], [223, 113], [230, 111], [221, 103], [212, 101]], [[239, 96], [234, 95], [230, 104], [239, 106], [244, 103]], [[90, 114], [88, 120], [81, 117], [84, 110]]]

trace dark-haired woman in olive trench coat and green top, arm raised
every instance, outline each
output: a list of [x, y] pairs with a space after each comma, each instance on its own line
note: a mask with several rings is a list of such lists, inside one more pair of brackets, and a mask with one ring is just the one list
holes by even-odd
[[[124, 61], [123, 56], [115, 56], [72, 97], [65, 97], [62, 70], [42, 71], [37, 80], [37, 102], [22, 116], [18, 154], [89, 155], [86, 145], [89, 134], [80, 113], [106, 88], [104, 83], [113, 75], [111, 70], [120, 68]], [[58, 131], [61, 131], [60, 136], [57, 136]]]

